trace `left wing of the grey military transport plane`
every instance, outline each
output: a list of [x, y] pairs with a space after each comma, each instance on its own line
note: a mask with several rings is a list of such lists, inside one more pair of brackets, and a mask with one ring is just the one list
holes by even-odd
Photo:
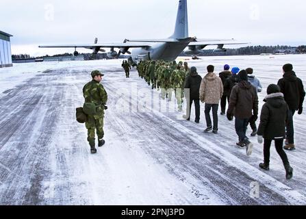
[[140, 43], [140, 42], [121, 42], [121, 43], [103, 43], [103, 44], [66, 44], [66, 45], [43, 45], [39, 48], [85, 48], [85, 49], [94, 49], [94, 48], [141, 48], [141, 47], [150, 47], [149, 43]]

